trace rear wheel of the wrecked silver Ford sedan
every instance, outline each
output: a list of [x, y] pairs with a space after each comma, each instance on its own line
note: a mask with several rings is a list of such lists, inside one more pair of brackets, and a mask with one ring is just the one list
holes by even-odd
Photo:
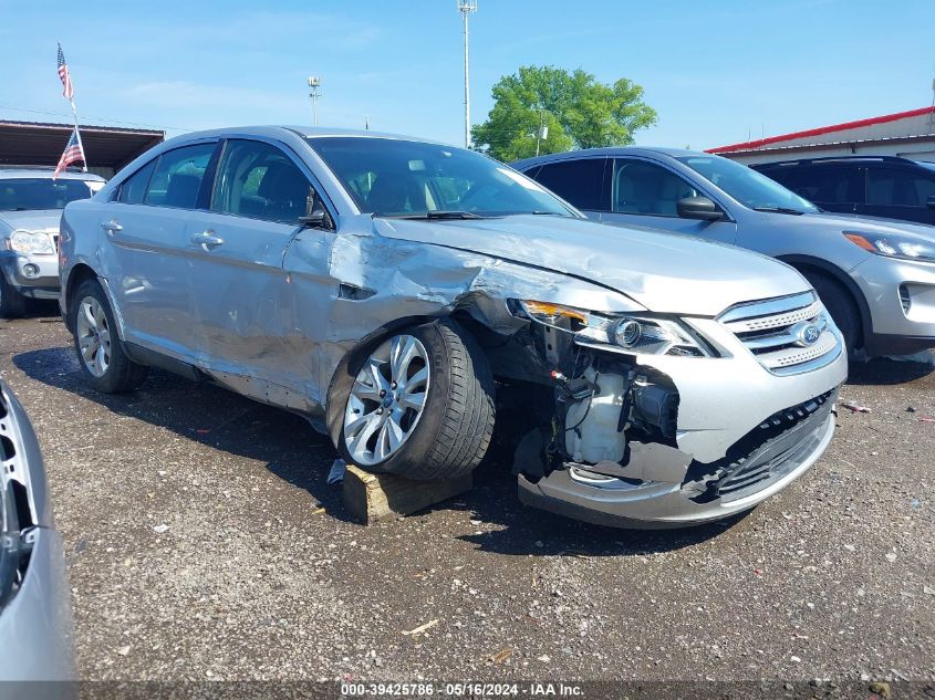
[[82, 282], [72, 300], [69, 326], [74, 328], [75, 352], [87, 382], [104, 394], [137, 388], [149, 368], [136, 364], [124, 352], [114, 312], [100, 282]]

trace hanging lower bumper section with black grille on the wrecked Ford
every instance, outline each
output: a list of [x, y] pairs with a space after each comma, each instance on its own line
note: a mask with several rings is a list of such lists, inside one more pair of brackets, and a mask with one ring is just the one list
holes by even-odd
[[[603, 462], [591, 469], [568, 463], [536, 482], [520, 474], [519, 498], [576, 520], [631, 529], [683, 527], [742, 513], [818, 461], [834, 433], [837, 395], [834, 389], [776, 412], [717, 462], [703, 464], [675, 448], [631, 443], [636, 449], [616, 470]], [[630, 478], [637, 473], [643, 478]]]

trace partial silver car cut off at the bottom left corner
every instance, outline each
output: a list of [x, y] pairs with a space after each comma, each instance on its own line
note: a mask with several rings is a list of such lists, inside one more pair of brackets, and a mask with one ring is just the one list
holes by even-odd
[[8, 682], [74, 679], [70, 595], [42, 453], [23, 407], [0, 382], [0, 682], [10, 697], [70, 694], [18, 694]]

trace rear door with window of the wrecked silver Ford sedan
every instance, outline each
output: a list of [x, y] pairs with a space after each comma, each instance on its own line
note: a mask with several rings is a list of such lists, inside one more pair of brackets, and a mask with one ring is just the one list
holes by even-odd
[[128, 342], [190, 361], [194, 327], [187, 260], [188, 219], [217, 142], [174, 148], [143, 166], [103, 209], [111, 243], [104, 267]]

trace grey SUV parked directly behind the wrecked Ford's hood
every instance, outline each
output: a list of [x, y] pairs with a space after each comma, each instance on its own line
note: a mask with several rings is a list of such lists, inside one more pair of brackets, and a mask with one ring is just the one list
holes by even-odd
[[583, 210], [733, 243], [794, 267], [852, 351], [935, 347], [935, 229], [827, 213], [744, 165], [676, 148], [599, 148], [513, 166]]

